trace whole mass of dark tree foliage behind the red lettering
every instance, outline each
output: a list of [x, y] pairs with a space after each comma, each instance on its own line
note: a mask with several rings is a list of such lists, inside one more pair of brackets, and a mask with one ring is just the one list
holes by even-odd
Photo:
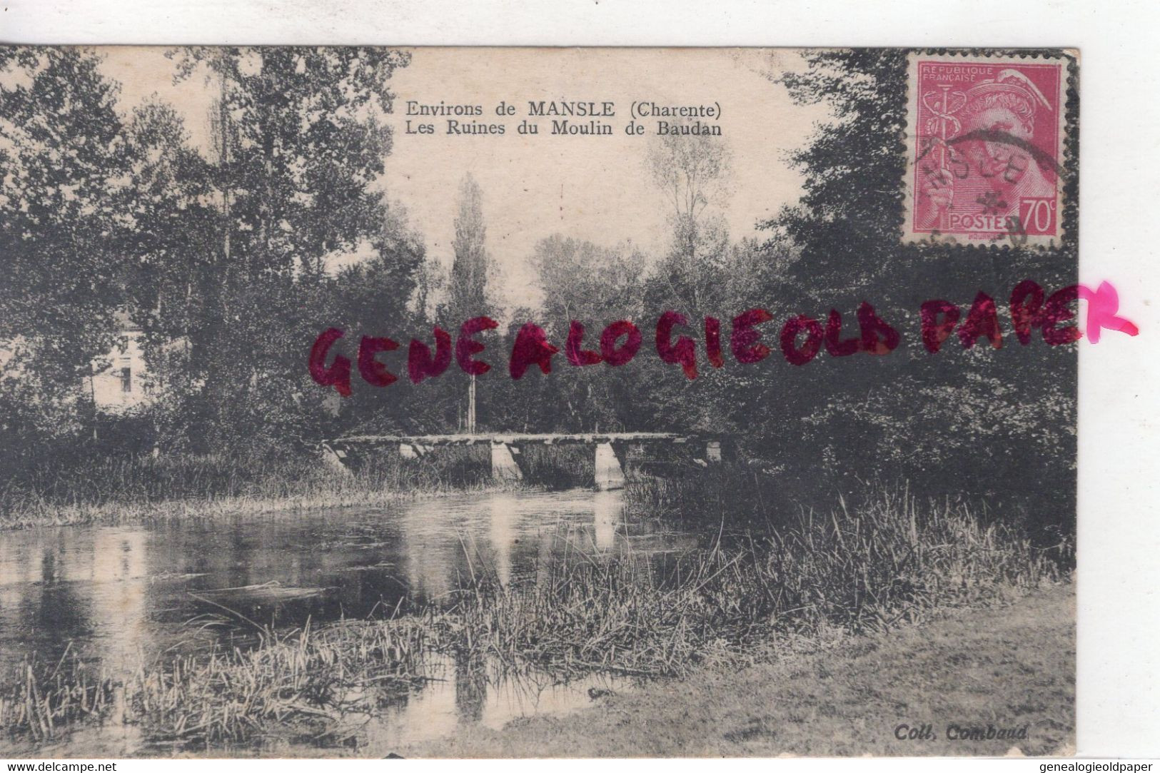
[[[817, 52], [769, 86], [826, 101], [838, 117], [793, 158], [805, 193], [763, 224], [764, 241], [732, 240], [720, 217], [731, 165], [745, 159], [713, 138], [661, 142], [645, 162], [672, 207], [668, 251], [545, 233], [531, 257], [542, 308], [516, 310], [498, 306], [486, 241], [487, 196], [502, 192], [465, 178], [448, 194], [458, 216], [444, 270], [380, 189], [391, 150], [382, 116], [404, 53], [174, 51], [175, 78], [204, 78], [218, 95], [209, 153], [190, 146], [164, 103], [118, 113], [117, 86], [93, 52], [2, 56], [0, 164], [10, 172], [0, 195], [0, 446], [10, 476], [35, 463], [29, 449], [92, 442], [97, 417], [81, 384], [115, 345], [118, 312], [144, 330], [158, 396], [136, 417], [147, 442], [260, 455], [311, 453], [353, 429], [463, 428], [469, 377], [452, 357], [442, 376], [412, 384], [407, 345], [414, 337], [434, 352], [436, 327], [454, 340], [464, 319], [488, 316], [500, 325], [478, 337], [493, 366], [477, 377], [481, 429], [737, 432], [745, 458], [803, 500], [906, 479], [928, 492], [994, 494], [1041, 523], [1073, 518], [1074, 346], [1021, 345], [1003, 317], [1001, 348], [951, 339], [930, 354], [918, 309], [936, 297], [965, 309], [981, 290], [1003, 316], [1022, 280], [1049, 291], [1072, 283], [1074, 203], [1056, 250], [902, 245], [905, 52]], [[1070, 202], [1075, 185], [1073, 169]], [[825, 324], [833, 310], [848, 337], [862, 303], [900, 333], [889, 356], [824, 354], [805, 366], [781, 356], [785, 319]], [[759, 308], [773, 353], [738, 363], [731, 320]], [[653, 325], [665, 310], [687, 319], [674, 335], [696, 341], [695, 380], [657, 356]], [[706, 316], [722, 323], [723, 367], [706, 356]], [[570, 363], [573, 320], [586, 328], [583, 348], [599, 351], [616, 319], [639, 325], [632, 362]], [[528, 322], [559, 353], [551, 374], [531, 367], [515, 381], [507, 357]], [[351, 361], [362, 335], [397, 337], [387, 356], [399, 380], [376, 388], [356, 377], [345, 399], [313, 383], [306, 355], [327, 327], [345, 331], [332, 357]], [[1027, 481], [1037, 482], [1032, 492]]]

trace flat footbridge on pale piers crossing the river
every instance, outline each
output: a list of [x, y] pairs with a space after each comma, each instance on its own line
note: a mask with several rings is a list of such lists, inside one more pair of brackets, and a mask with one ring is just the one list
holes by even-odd
[[592, 446], [595, 450], [596, 487], [601, 491], [624, 487], [624, 463], [630, 450], [644, 446], [680, 446], [691, 451], [699, 464], [713, 464], [727, 455], [725, 435], [677, 434], [670, 432], [612, 432], [578, 434], [451, 434], [451, 435], [348, 435], [322, 442], [324, 457], [343, 470], [350, 450], [357, 447], [397, 447], [405, 458], [419, 458], [440, 446], [488, 445], [492, 450], [492, 477], [521, 481], [527, 475], [523, 448], [542, 446]]

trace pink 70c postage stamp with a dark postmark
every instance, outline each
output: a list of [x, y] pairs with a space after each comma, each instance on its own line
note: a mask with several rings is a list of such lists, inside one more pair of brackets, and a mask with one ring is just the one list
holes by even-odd
[[1058, 244], [1067, 59], [911, 56], [905, 241]]

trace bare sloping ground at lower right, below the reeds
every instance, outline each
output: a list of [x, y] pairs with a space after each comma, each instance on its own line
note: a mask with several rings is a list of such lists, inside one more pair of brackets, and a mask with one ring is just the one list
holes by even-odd
[[[1074, 746], [1074, 586], [884, 637], [473, 729], [404, 757], [1024, 754]], [[929, 737], [898, 739], [899, 725]], [[951, 725], [959, 725], [955, 730]], [[1025, 738], [950, 739], [1025, 727]]]

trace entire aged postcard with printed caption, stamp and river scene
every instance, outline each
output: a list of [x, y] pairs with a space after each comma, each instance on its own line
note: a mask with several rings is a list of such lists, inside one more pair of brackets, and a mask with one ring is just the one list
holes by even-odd
[[9, 756], [1074, 753], [1075, 50], [0, 65]]

